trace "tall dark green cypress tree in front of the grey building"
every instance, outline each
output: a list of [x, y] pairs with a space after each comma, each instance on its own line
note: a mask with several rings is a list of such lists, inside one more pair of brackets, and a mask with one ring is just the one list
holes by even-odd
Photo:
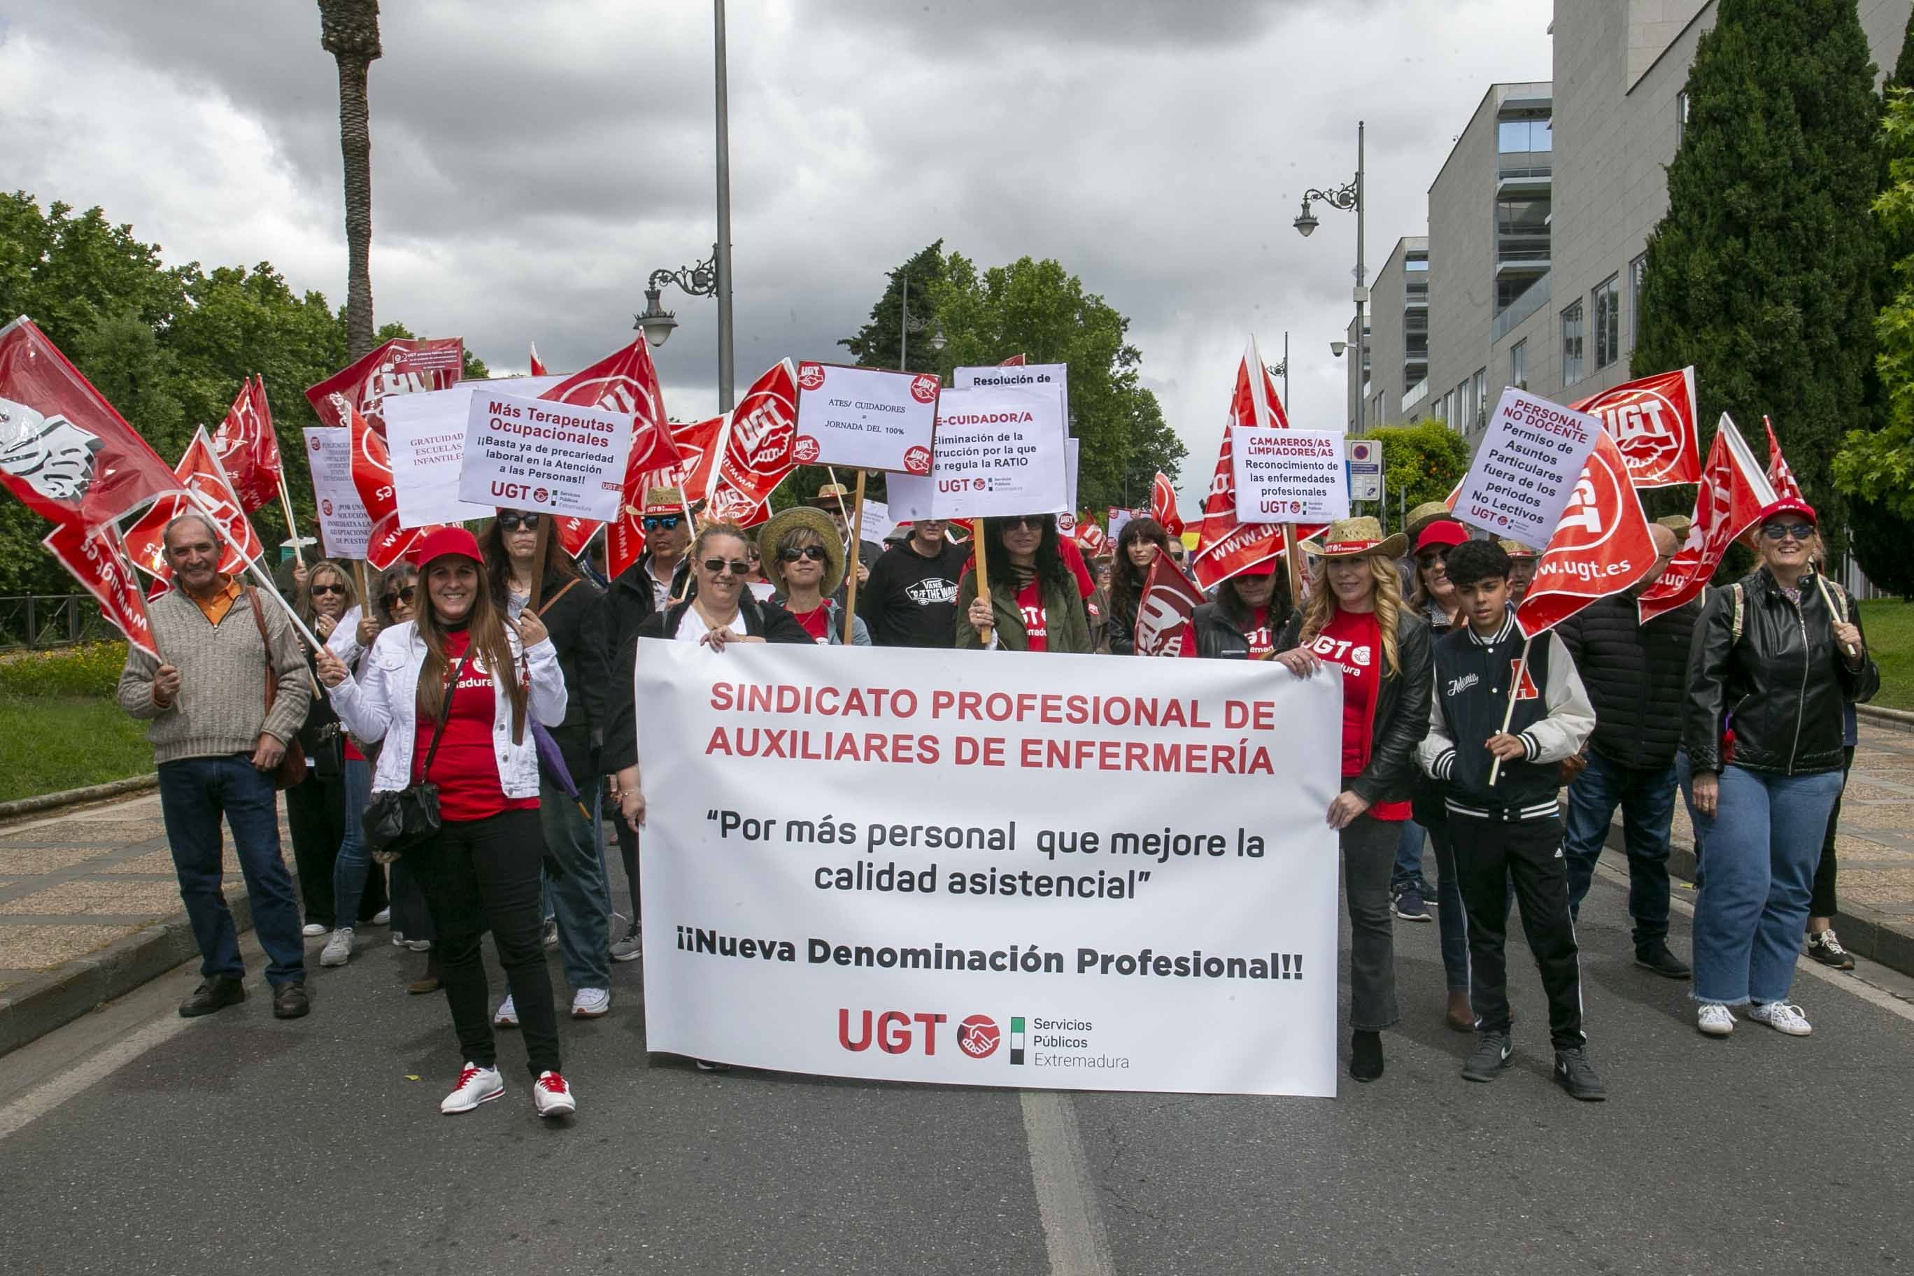
[[1876, 121], [1855, 0], [1721, 0], [1688, 71], [1633, 356], [1636, 375], [1694, 363], [1705, 423], [1772, 415], [1836, 551], [1830, 461], [1866, 419], [1874, 360]]

